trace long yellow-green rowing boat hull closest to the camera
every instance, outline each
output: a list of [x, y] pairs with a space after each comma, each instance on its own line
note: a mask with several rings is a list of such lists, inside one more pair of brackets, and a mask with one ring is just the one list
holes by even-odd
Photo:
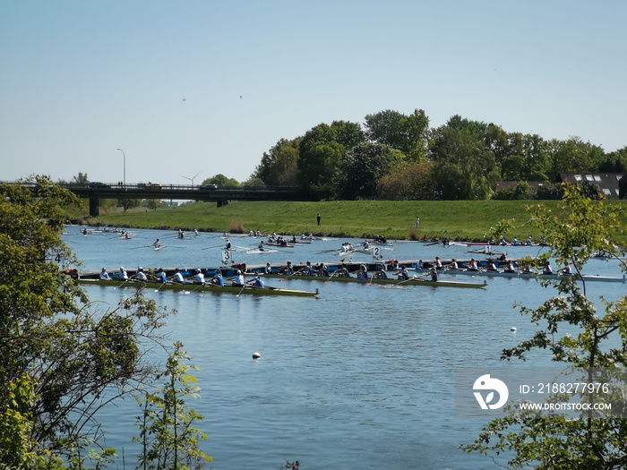
[[162, 284], [159, 282], [141, 282], [141, 281], [124, 281], [124, 280], [109, 280], [101, 281], [98, 279], [86, 279], [79, 278], [79, 284], [86, 286], [101, 286], [101, 287], [129, 287], [137, 288], [144, 287], [147, 289], [157, 290], [173, 290], [173, 291], [185, 291], [185, 292], [210, 292], [211, 294], [246, 294], [246, 295], [295, 295], [299, 297], [314, 297], [318, 295], [318, 292], [304, 291], [304, 290], [291, 290], [280, 289], [279, 287], [255, 287], [246, 285], [242, 286], [215, 286], [210, 284]]

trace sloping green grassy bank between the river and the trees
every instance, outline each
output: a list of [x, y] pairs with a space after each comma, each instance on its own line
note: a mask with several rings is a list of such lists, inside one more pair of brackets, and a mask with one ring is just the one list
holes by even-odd
[[[558, 201], [546, 201], [555, 208]], [[537, 203], [529, 201], [528, 203]], [[89, 219], [90, 225], [137, 228], [197, 228], [225, 232], [260, 230], [262, 233], [367, 237], [383, 235], [391, 239], [411, 236], [483, 240], [485, 233], [503, 218], [527, 220], [525, 201], [329, 201], [329, 202], [231, 202], [217, 208], [199, 202], [178, 208], [133, 209], [101, 213]], [[322, 216], [317, 226], [316, 214]], [[416, 232], [416, 218], [420, 218]], [[520, 226], [519, 239], [537, 235], [530, 226]]]

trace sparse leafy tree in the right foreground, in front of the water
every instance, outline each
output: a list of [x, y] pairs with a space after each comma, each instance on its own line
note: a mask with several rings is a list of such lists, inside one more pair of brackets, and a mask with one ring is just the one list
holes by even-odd
[[[559, 265], [569, 263], [576, 273], [597, 252], [623, 256], [612, 234], [623, 229], [621, 206], [591, 201], [574, 186], [564, 185], [563, 205], [557, 213], [544, 205], [530, 208], [528, 223], [537, 226], [549, 245], [545, 256], [554, 257]], [[499, 239], [513, 227], [504, 221], [492, 231]], [[624, 267], [624, 264], [623, 264]], [[594, 372], [608, 376], [627, 365], [627, 296], [614, 302], [605, 301], [605, 314], [588, 299], [585, 281], [580, 284], [566, 278], [557, 286], [558, 295], [536, 309], [521, 307], [523, 315], [539, 327], [536, 334], [518, 346], [502, 351], [502, 360], [526, 360], [531, 351], [547, 351], [552, 360], [587, 372], [587, 381], [595, 382]], [[565, 332], [564, 329], [568, 330]], [[568, 400], [556, 394], [552, 399]], [[603, 398], [584, 395], [593, 402]], [[624, 407], [623, 390], [608, 396], [613, 405]], [[615, 469], [627, 466], [627, 422], [624, 419], [592, 412], [582, 412], [578, 419], [565, 414], [540, 414], [508, 406], [506, 415], [494, 419], [473, 444], [461, 446], [465, 452], [477, 451], [493, 456], [508, 468], [533, 466], [551, 470]], [[506, 460], [501, 462], [500, 460]]]

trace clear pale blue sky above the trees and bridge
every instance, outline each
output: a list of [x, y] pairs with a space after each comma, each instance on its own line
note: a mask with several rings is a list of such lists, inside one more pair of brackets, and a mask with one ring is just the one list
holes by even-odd
[[[244, 181], [316, 124], [425, 110], [627, 145], [627, 2], [0, 2], [0, 180]], [[240, 98], [241, 97], [241, 98]]]

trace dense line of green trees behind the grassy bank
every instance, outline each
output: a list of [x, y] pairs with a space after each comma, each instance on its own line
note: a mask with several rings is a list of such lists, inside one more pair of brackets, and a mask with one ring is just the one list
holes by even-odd
[[[561, 173], [623, 173], [627, 146], [606, 153], [580, 137], [544, 140], [453, 115], [432, 128], [422, 109], [385, 110], [365, 123], [318, 124], [263, 153], [246, 184], [299, 186], [325, 200], [555, 199], [558, 185], [533, 194], [527, 182], [556, 182]], [[520, 182], [510, 194], [498, 181]]]

